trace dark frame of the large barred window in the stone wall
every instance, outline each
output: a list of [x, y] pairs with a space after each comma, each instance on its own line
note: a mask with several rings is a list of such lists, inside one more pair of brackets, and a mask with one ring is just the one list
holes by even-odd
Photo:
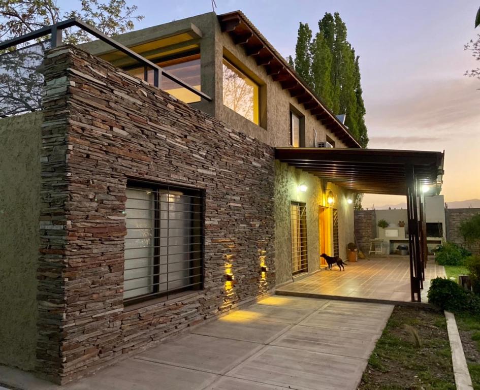
[[[154, 199], [154, 216], [153, 216], [154, 235], [152, 237], [154, 251], [152, 255], [153, 265], [151, 267], [153, 270], [153, 274], [149, 275], [149, 277], [152, 278], [152, 293], [134, 296], [126, 299], [123, 298], [123, 305], [126, 307], [126, 306], [135, 305], [137, 303], [142, 303], [147, 301], [157, 301], [158, 299], [161, 299], [162, 301], [168, 301], [169, 299], [173, 299], [182, 293], [189, 294], [189, 293], [194, 293], [195, 291], [202, 291], [204, 289], [204, 283], [205, 283], [205, 190], [196, 188], [196, 187], [178, 186], [178, 185], [172, 185], [164, 182], [155, 182], [155, 181], [138, 180], [138, 179], [128, 179], [126, 184], [126, 189], [127, 188], [139, 189], [139, 190], [145, 190], [145, 191], [153, 189], [156, 195]], [[200, 238], [198, 242], [193, 242], [191, 240], [189, 240], [188, 242], [188, 246], [190, 249], [192, 249], [193, 246], [199, 247], [198, 250], [196, 250], [195, 252], [192, 251], [192, 253], [199, 253], [200, 255], [198, 256], [198, 258], [195, 258], [195, 259], [190, 258], [187, 260], [187, 262], [198, 261], [199, 266], [196, 268], [199, 268], [200, 272], [198, 274], [195, 274], [195, 272], [193, 272], [193, 270], [190, 267], [187, 268], [186, 270], [189, 271], [188, 277], [189, 278], [199, 277], [199, 282], [196, 282], [193, 284], [189, 283], [189, 285], [187, 286], [179, 287], [172, 290], [168, 289], [168, 284], [167, 284], [167, 289], [163, 291], [159, 289], [160, 284], [162, 284], [160, 283], [160, 279], [162, 275], [167, 275], [168, 277], [168, 272], [166, 274], [162, 274], [160, 272], [161, 266], [162, 266], [161, 257], [165, 256], [165, 254], [162, 254], [160, 250], [161, 248], [160, 241], [162, 239], [160, 232], [161, 232], [161, 229], [165, 229], [165, 228], [161, 227], [162, 209], [161, 209], [161, 200], [159, 199], [160, 197], [158, 195], [160, 194], [159, 190], [165, 190], [165, 189], [168, 191], [182, 191], [182, 192], [185, 192], [186, 196], [195, 196], [195, 197], [198, 197], [198, 199], [200, 199], [200, 202], [198, 204], [200, 208], [198, 212], [199, 217], [197, 218], [198, 220], [200, 220], [199, 226], [196, 226], [195, 228], [193, 228], [192, 226], [189, 227], [189, 230], [191, 229], [199, 230], [199, 234], [197, 236]], [[167, 204], [167, 211], [170, 211], [168, 204]], [[194, 212], [192, 210], [189, 211], [190, 220], [191, 220], [191, 215], [193, 213]], [[168, 217], [168, 220], [170, 220], [170, 217]], [[190, 236], [187, 236], [187, 237], [190, 237]], [[167, 236], [167, 239], [168, 239], [168, 236]], [[167, 242], [167, 247], [169, 245], [170, 244]], [[124, 248], [124, 251], [125, 251], [125, 248]], [[126, 260], [128, 259], [123, 258], [123, 280], [125, 278], [125, 261]], [[167, 254], [167, 265], [168, 265], [168, 254]], [[124, 281], [123, 281], [123, 285], [124, 285]], [[123, 291], [123, 294], [124, 294], [124, 291]]]

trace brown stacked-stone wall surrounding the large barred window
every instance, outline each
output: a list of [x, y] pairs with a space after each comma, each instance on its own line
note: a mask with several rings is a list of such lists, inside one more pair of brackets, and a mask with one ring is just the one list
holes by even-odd
[[[71, 46], [47, 53], [45, 79], [42, 376], [75, 379], [273, 288], [271, 147]], [[202, 291], [123, 307], [127, 178], [205, 190]], [[230, 290], [227, 263], [237, 280]]]

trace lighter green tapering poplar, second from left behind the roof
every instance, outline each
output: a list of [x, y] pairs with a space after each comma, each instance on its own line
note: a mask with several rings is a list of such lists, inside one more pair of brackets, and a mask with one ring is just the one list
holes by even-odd
[[315, 35], [310, 52], [312, 57], [311, 79], [313, 90], [327, 107], [332, 107], [332, 53], [322, 31], [317, 32]]

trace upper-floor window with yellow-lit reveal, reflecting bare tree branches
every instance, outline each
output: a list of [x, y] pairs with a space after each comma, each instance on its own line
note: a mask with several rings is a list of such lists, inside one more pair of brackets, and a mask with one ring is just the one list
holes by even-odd
[[223, 58], [223, 105], [260, 124], [259, 85]]

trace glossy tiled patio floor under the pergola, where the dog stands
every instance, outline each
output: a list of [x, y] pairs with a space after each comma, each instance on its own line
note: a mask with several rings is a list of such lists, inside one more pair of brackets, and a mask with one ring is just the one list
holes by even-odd
[[[445, 276], [443, 266], [429, 260], [425, 270], [422, 302], [427, 302], [430, 280], [438, 276]], [[331, 271], [322, 270], [277, 288], [277, 294], [288, 293], [409, 302], [409, 259], [407, 256], [359, 259], [357, 263], [347, 262], [345, 272], [338, 271], [335, 265]]]

